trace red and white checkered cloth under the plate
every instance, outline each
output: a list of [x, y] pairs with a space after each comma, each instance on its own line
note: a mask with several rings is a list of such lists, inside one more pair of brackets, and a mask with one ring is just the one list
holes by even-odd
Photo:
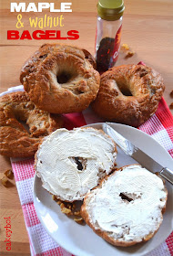
[[[102, 122], [90, 109], [87, 109], [83, 113], [66, 114], [64, 115], [64, 119], [67, 129], [89, 123]], [[156, 139], [173, 157], [173, 117], [163, 98], [159, 102], [158, 111], [148, 122], [142, 124], [139, 129]], [[24, 212], [31, 253], [34, 256], [71, 256], [69, 252], [58, 246], [56, 242], [50, 238], [36, 216], [36, 209], [33, 203], [33, 182], [35, 175], [33, 166], [34, 158], [23, 161], [15, 161], [15, 159], [12, 159], [16, 187]], [[173, 232], [157, 249], [148, 253], [148, 256], [170, 255], [173, 255]]]

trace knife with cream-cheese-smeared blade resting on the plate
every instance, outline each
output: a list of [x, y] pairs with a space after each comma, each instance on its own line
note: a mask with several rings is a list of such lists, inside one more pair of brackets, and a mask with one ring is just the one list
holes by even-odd
[[149, 171], [153, 172], [153, 167], [158, 170], [160, 176], [163, 176], [173, 184], [173, 171], [159, 165], [157, 161], [151, 158], [149, 155], [144, 153], [142, 150], [137, 148], [134, 144], [132, 144], [129, 140], [123, 137], [120, 133], [117, 133], [110, 125], [107, 123], [102, 124], [102, 129], [107, 135], [109, 135], [116, 144], [123, 150], [126, 155], [129, 155], [133, 159], [137, 161], [138, 164], [142, 165], [143, 167], [147, 168]]

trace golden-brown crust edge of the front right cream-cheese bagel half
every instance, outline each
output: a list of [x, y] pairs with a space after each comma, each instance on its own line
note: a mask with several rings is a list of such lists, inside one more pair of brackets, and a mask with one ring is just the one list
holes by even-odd
[[[126, 166], [128, 166], [128, 165], [126, 165]], [[126, 166], [124, 166], [124, 167], [126, 167]], [[122, 171], [124, 167], [121, 167], [121, 168], [115, 170], [115, 172], [117, 172], [117, 171]], [[109, 175], [109, 176], [113, 176], [113, 175], [115, 174], [115, 172], [112, 173], [112, 174]], [[97, 189], [97, 188], [101, 188], [102, 185], [103, 185], [103, 183], [104, 183], [105, 181], [107, 181], [107, 178], [108, 178], [109, 176], [106, 176], [105, 178], [103, 178], [103, 179], [101, 180], [101, 182], [99, 183], [99, 185], [98, 185], [97, 187], [95, 187], [94, 189], [92, 189], [92, 191], [95, 190], [95, 189]], [[165, 186], [165, 185], [164, 185], [164, 186]], [[167, 198], [168, 198], [168, 190], [167, 190], [166, 187], [165, 187], [164, 191], [167, 193]], [[148, 234], [148, 236], [147, 236], [147, 237], [144, 237], [143, 240], [141, 240], [141, 241], [137, 241], [137, 240], [122, 241], [122, 240], [115, 240], [115, 239], [111, 238], [111, 237], [108, 235], [107, 231], [103, 231], [102, 229], [99, 229], [99, 228], [96, 229], [95, 225], [93, 225], [93, 223], [91, 222], [91, 220], [90, 220], [90, 218], [89, 218], [88, 211], [86, 210], [86, 204], [87, 204], [87, 201], [89, 201], [89, 196], [90, 196], [90, 193], [87, 193], [86, 197], [84, 198], [83, 205], [82, 205], [82, 207], [81, 207], [81, 209], [80, 209], [80, 215], [81, 215], [81, 217], [86, 221], [86, 224], [87, 224], [91, 229], [93, 229], [93, 231], [94, 231], [98, 236], [100, 236], [100, 237], [103, 238], [104, 240], [107, 240], [107, 242], [109, 242], [109, 243], [111, 243], [111, 244], [113, 244], [113, 245], [115, 245], [115, 246], [121, 246], [121, 247], [132, 246], [132, 245], [134, 245], [134, 244], [137, 244], [138, 242], [143, 242], [143, 241], [148, 241], [148, 240], [150, 240], [150, 239], [158, 232], [158, 229], [159, 229], [159, 227], [160, 227], [160, 225], [161, 225], [161, 223], [162, 223], [163, 214], [165, 213], [166, 204], [167, 204], [167, 199], [166, 199], [165, 206], [162, 208], [162, 211], [161, 211], [162, 219], [160, 220], [160, 223], [158, 223], [158, 229], [156, 229], [153, 233]]]

